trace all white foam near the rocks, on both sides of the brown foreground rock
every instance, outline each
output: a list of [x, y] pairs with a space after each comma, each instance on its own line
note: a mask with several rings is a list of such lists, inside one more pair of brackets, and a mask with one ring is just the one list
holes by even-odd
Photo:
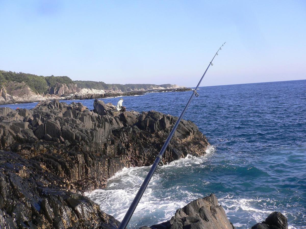
[[[203, 193], [190, 191], [184, 184], [178, 183], [174, 187], [170, 185], [164, 190], [160, 190], [159, 183], [164, 181], [167, 174], [173, 173], [174, 169], [206, 166], [205, 162], [215, 151], [216, 147], [211, 145], [207, 147], [206, 154], [202, 157], [187, 155], [185, 158], [158, 167], [135, 210], [131, 219], [132, 225], [141, 224], [141, 220], [150, 218], [156, 220], [150, 221], [151, 224], [162, 223], [169, 220], [177, 209], [182, 208], [192, 200], [203, 197]], [[150, 167], [123, 168], [109, 179], [105, 190], [95, 190], [86, 193], [86, 195], [99, 204], [101, 210], [113, 215], [117, 220], [122, 220]], [[203, 186], [210, 184], [205, 180], [202, 182]], [[225, 197], [218, 196], [218, 201], [223, 206], [227, 216], [235, 216], [236, 219], [241, 219], [234, 224], [237, 228], [249, 227], [250, 219], [261, 222], [272, 213], [272, 210], [275, 210], [273, 208], [275, 200], [269, 198], [241, 198], [227, 195]], [[267, 207], [271, 207], [271, 205], [273, 209]], [[283, 214], [286, 213], [283, 212]], [[289, 226], [289, 228], [298, 229], [293, 226]]]

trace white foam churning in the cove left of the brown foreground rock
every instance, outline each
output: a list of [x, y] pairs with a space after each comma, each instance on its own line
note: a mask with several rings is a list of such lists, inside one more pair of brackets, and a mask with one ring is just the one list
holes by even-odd
[[[187, 191], [185, 186], [177, 186], [174, 189], [170, 187], [168, 192], [163, 193], [162, 196], [159, 196], [156, 192], [159, 190], [158, 183], [164, 179], [163, 174], [171, 173], [171, 170], [175, 167], [198, 166], [207, 160], [207, 156], [215, 152], [215, 147], [209, 146], [206, 152], [205, 157], [194, 157], [188, 154], [185, 158], [159, 167], [159, 172], [152, 177], [135, 210], [134, 217], [137, 218], [154, 213], [153, 215], [157, 216], [157, 221], [154, 223], [161, 223], [169, 220], [178, 208], [185, 206], [196, 198], [202, 197], [202, 194]], [[85, 195], [99, 204], [101, 210], [113, 215], [118, 220], [122, 220], [150, 167], [123, 168], [108, 180], [109, 183], [106, 189], [95, 190], [91, 193], [85, 193]], [[209, 184], [209, 182], [204, 181], [204, 185], [206, 184]], [[176, 194], [173, 191], [178, 196], [184, 196], [184, 200], [176, 198]]]

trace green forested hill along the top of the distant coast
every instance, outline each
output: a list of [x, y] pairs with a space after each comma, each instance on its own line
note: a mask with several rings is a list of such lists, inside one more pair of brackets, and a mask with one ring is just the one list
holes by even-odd
[[[50, 91], [54, 91], [54, 87], [59, 84], [64, 84], [69, 87], [69, 85], [75, 85], [79, 89], [96, 89], [96, 90], [114, 90], [129, 92], [133, 90], [149, 90], [155, 88], [177, 88], [177, 85], [171, 84], [106, 84], [104, 82], [95, 82], [95, 81], [73, 81], [68, 76], [38, 76], [23, 72], [12, 72], [12, 71], [3, 71], [0, 70], [0, 87], [6, 85], [9, 82], [24, 82], [33, 92], [39, 94], [47, 94]], [[16, 85], [20, 86], [19, 84]]]

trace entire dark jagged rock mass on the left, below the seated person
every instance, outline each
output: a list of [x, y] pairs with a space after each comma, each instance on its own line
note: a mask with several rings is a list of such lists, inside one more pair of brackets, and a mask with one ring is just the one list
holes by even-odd
[[[0, 107], [0, 227], [115, 228], [118, 221], [84, 197], [124, 167], [151, 165], [177, 117], [119, 112], [95, 100]], [[207, 139], [182, 120], [163, 162], [205, 154]]]

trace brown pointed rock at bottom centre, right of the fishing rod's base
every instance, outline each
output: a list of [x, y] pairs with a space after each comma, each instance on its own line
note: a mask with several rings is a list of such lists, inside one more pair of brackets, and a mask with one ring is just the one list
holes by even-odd
[[152, 225], [155, 229], [234, 229], [215, 194], [199, 198], [177, 209], [169, 221]]

